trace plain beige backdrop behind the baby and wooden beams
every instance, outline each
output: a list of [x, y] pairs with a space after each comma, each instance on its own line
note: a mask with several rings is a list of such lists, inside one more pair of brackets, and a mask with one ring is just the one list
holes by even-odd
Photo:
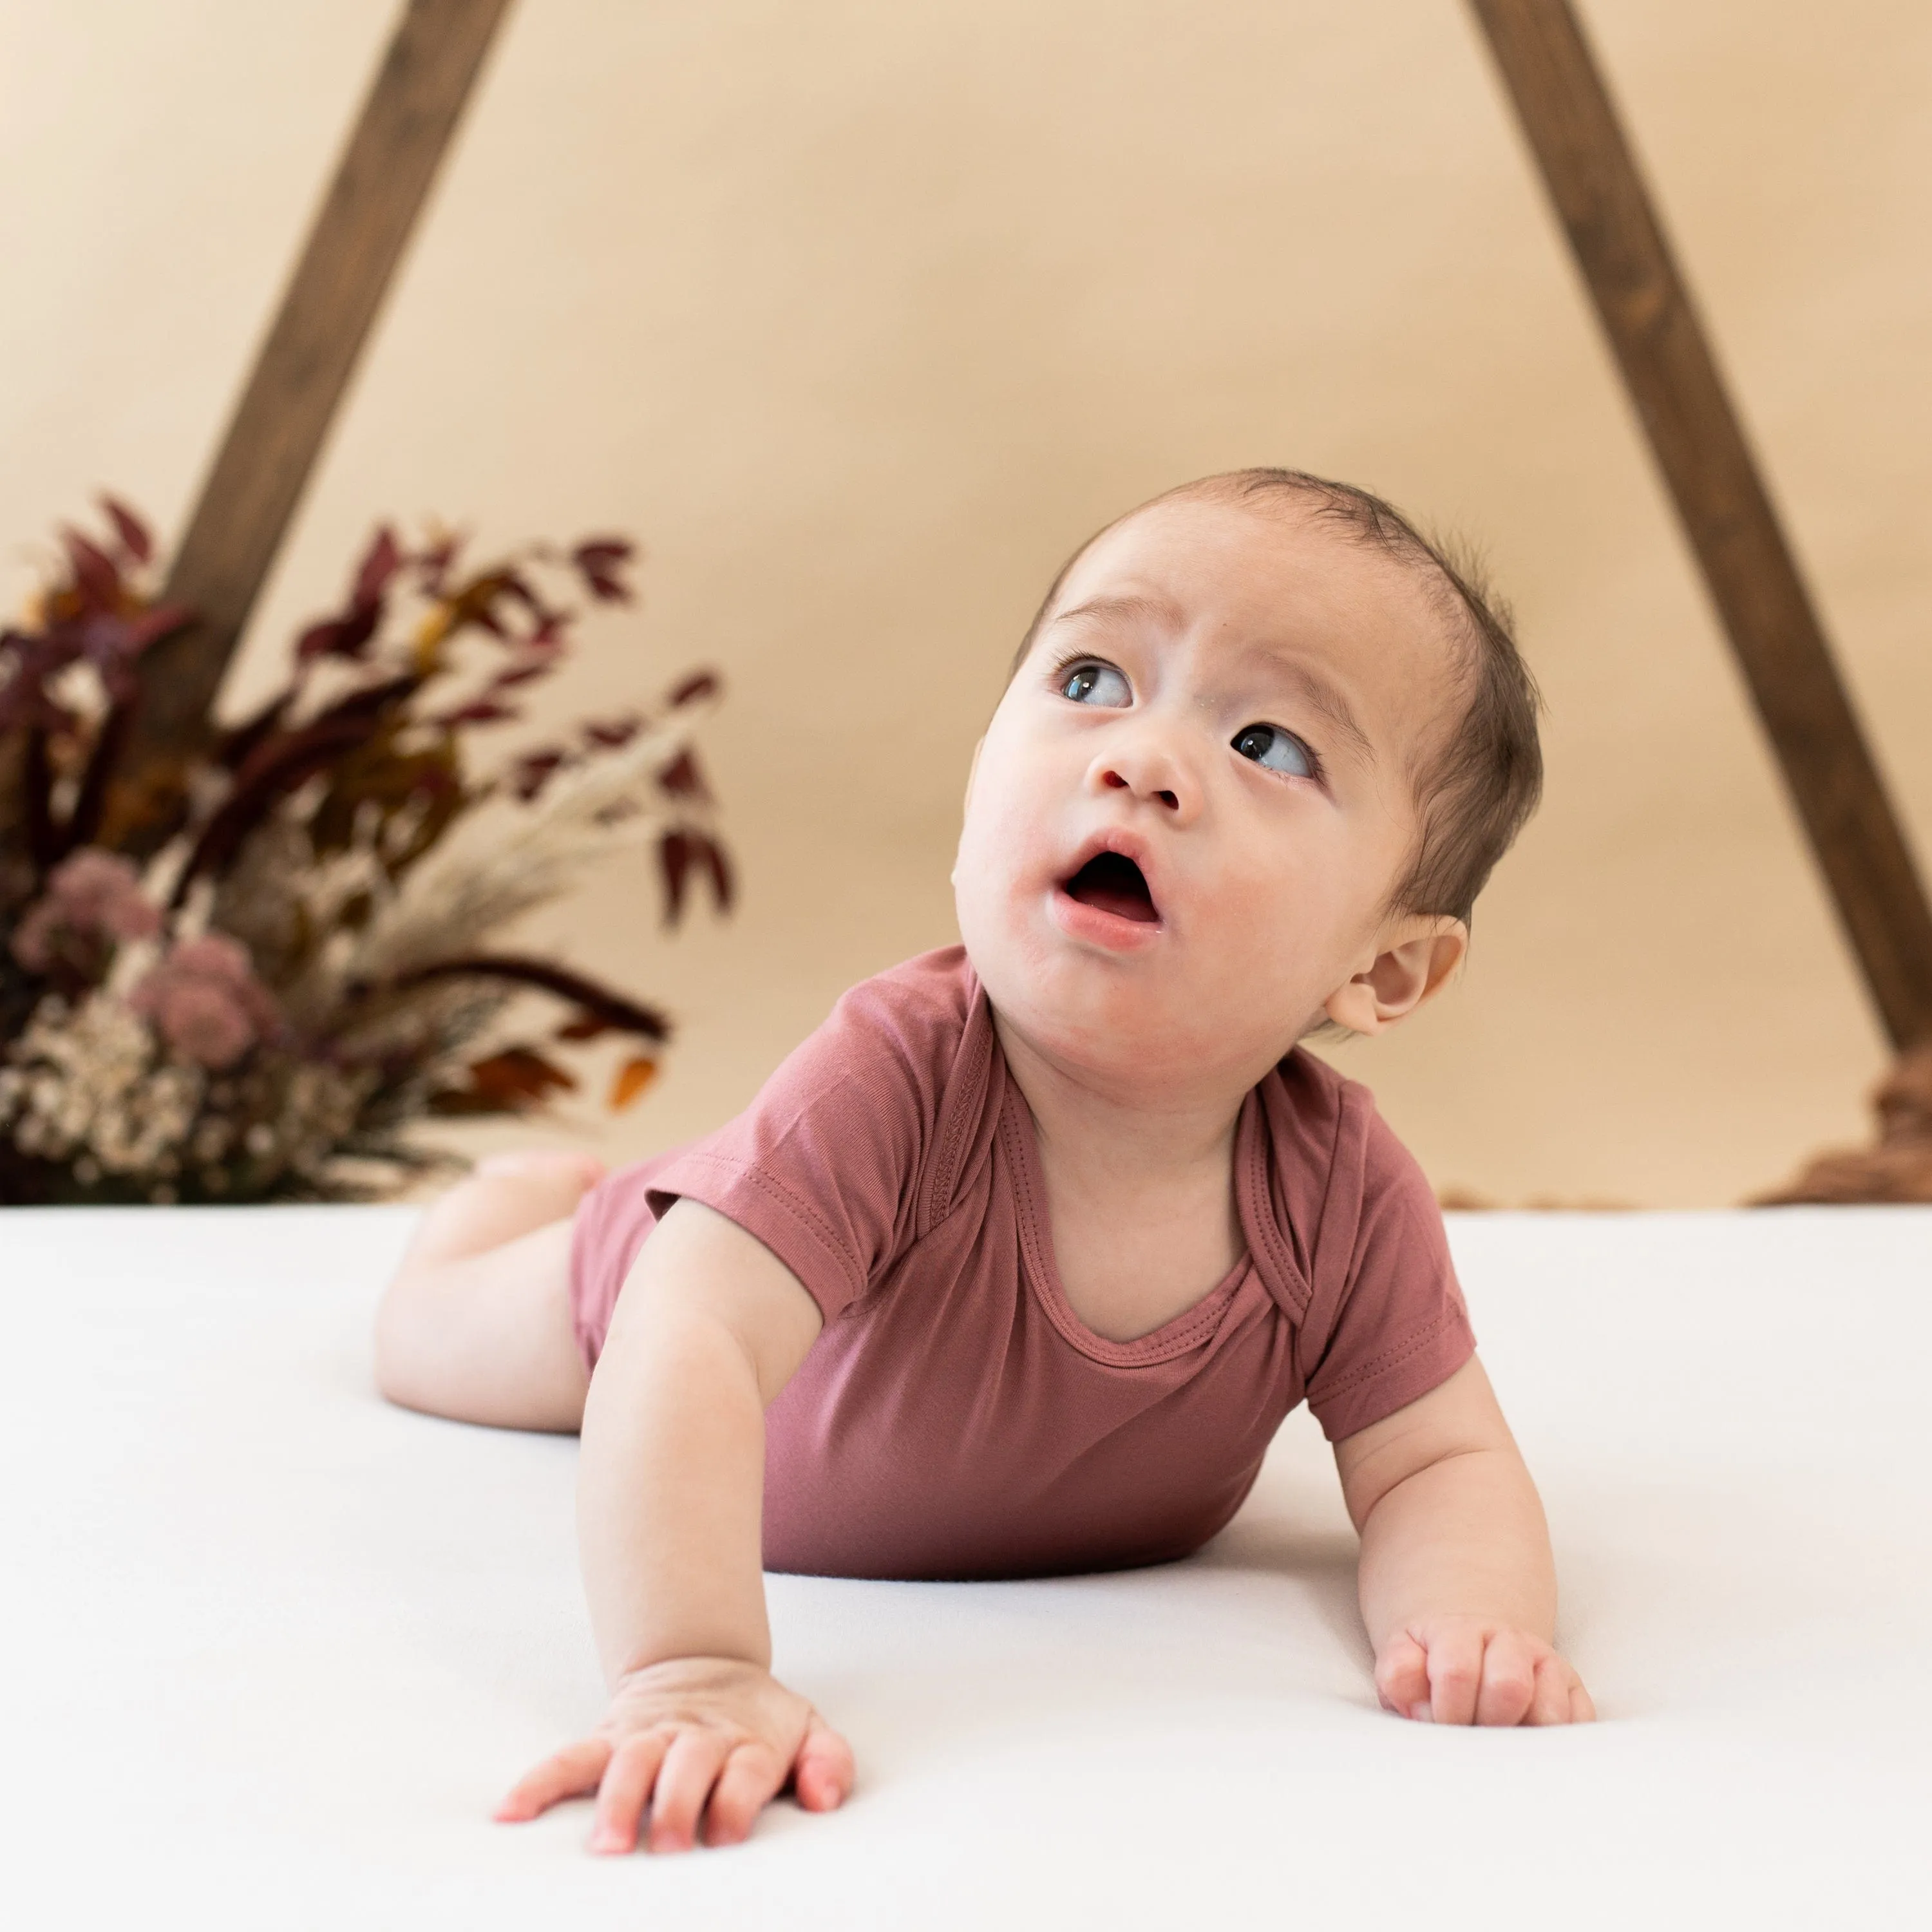
[[[176, 527], [392, 0], [0, 0], [0, 535]], [[1920, 850], [1932, 850], [1932, 12], [1588, 17]], [[1464, 981], [1350, 1047], [1441, 1184], [1694, 1204], [1862, 1134], [1882, 1043], [1455, 0], [522, 0], [255, 630], [379, 512], [618, 526], [688, 661], [742, 914], [618, 869], [541, 937], [684, 1034], [643, 1151], [952, 935], [966, 757], [1061, 554], [1293, 462], [1472, 533], [1549, 800]]]

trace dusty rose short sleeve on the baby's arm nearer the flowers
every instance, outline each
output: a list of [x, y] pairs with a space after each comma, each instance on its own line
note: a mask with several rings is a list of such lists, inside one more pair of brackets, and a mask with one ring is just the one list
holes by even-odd
[[657, 1167], [651, 1211], [703, 1202], [784, 1262], [827, 1321], [856, 1302], [910, 1240], [964, 1030], [960, 976], [937, 958], [846, 993], [736, 1121]]

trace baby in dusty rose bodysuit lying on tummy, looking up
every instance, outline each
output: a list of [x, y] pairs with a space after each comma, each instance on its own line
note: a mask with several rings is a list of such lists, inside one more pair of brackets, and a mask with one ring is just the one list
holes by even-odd
[[1370, 1095], [1536, 802], [1495, 611], [1364, 491], [1248, 469], [1061, 572], [980, 742], [962, 947], [854, 987], [753, 1105], [599, 1179], [487, 1161], [377, 1321], [412, 1408], [583, 1434], [611, 1708], [500, 1818], [746, 1837], [852, 1752], [771, 1677], [763, 1569], [1034, 1577], [1221, 1530], [1304, 1397], [1385, 1708], [1573, 1723], [1542, 1507], [1441, 1215]]

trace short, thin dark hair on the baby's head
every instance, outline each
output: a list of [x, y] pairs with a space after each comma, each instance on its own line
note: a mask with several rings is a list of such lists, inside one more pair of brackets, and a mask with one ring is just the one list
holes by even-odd
[[[1466, 703], [1455, 730], [1410, 773], [1422, 835], [1391, 906], [1466, 922], [1476, 895], [1522, 831], [1544, 788], [1536, 680], [1517, 651], [1509, 605], [1490, 587], [1472, 556], [1422, 535], [1395, 504], [1352, 483], [1304, 469], [1231, 469], [1163, 491], [1151, 502], [1188, 497], [1240, 508], [1294, 508], [1321, 518], [1414, 572], [1428, 589], [1459, 645], [1455, 678]], [[1126, 518], [1115, 518], [1115, 524], [1121, 522]], [[1061, 566], [1026, 628], [1014, 670], [1034, 647], [1066, 574], [1115, 524], [1088, 537]]]

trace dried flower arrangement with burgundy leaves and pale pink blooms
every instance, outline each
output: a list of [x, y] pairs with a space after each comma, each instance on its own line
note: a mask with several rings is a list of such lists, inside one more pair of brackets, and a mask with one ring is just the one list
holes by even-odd
[[[543, 1107], [578, 1086], [556, 1043], [605, 1034], [632, 1041], [611, 1105], [634, 1101], [665, 1016], [493, 941], [620, 844], [655, 844], [668, 922], [696, 879], [730, 906], [692, 742], [717, 678], [471, 750], [566, 655], [568, 587], [630, 601], [632, 547], [464, 570], [458, 539], [384, 527], [282, 688], [133, 781], [143, 653], [191, 612], [155, 601], [141, 520], [102, 510], [0, 630], [0, 1202], [381, 1196], [450, 1161], [413, 1124]], [[545, 1036], [506, 1032], [533, 993]]]

